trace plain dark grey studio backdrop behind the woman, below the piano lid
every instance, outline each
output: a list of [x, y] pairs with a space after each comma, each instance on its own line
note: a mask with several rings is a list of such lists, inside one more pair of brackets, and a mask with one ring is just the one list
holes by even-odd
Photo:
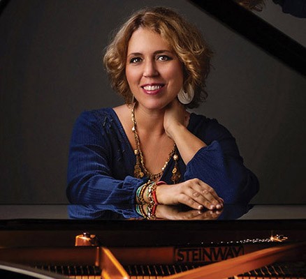
[[196, 112], [235, 136], [261, 183], [252, 202], [306, 203], [306, 79], [184, 0], [14, 0], [0, 17], [0, 203], [66, 203], [66, 166], [80, 112], [122, 99], [102, 53], [134, 10], [169, 6], [212, 46], [209, 98]]

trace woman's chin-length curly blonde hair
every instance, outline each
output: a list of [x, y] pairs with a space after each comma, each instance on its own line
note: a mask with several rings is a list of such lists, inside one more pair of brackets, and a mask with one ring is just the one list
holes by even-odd
[[195, 93], [194, 100], [187, 107], [198, 107], [207, 98], [205, 80], [210, 72], [212, 51], [198, 29], [170, 8], [139, 10], [117, 31], [103, 58], [112, 88], [124, 97], [127, 104], [132, 102], [133, 95], [125, 75], [126, 55], [129, 40], [140, 27], [159, 33], [173, 48], [183, 65], [184, 89], [192, 86]]

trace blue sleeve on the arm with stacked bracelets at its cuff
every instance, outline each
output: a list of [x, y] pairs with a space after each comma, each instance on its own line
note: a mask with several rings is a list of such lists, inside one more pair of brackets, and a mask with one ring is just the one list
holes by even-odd
[[[135, 203], [137, 188], [144, 183], [129, 175], [112, 177], [114, 135], [91, 112], [83, 112], [73, 128], [68, 157], [66, 194], [74, 204]], [[110, 164], [112, 163], [112, 167]], [[117, 162], [116, 162], [117, 163]], [[120, 162], [117, 167], [120, 167]]]

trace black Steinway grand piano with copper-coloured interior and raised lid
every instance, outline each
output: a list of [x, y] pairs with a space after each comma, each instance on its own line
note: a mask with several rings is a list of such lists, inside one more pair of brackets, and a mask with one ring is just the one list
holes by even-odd
[[[231, 1], [191, 2], [305, 75], [305, 47]], [[75, 207], [94, 217], [72, 219]], [[168, 210], [173, 220], [122, 204], [3, 204], [0, 278], [306, 278], [306, 205]]]

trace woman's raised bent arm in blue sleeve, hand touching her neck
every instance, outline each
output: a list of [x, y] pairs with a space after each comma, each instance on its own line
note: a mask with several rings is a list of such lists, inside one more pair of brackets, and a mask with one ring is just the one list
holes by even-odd
[[[217, 121], [204, 121], [204, 118], [198, 119], [197, 127], [191, 133], [187, 129], [187, 115], [184, 107], [175, 100], [168, 107], [164, 119], [166, 133], [177, 144], [187, 165], [184, 180], [203, 181], [226, 203], [249, 202], [258, 192], [258, 180], [243, 165], [235, 138]], [[190, 186], [183, 188], [185, 195], [197, 202], [194, 195], [201, 194], [201, 191], [196, 188], [191, 191]], [[204, 188], [210, 189], [207, 186], [201, 189]], [[216, 204], [212, 197], [207, 200]]]

